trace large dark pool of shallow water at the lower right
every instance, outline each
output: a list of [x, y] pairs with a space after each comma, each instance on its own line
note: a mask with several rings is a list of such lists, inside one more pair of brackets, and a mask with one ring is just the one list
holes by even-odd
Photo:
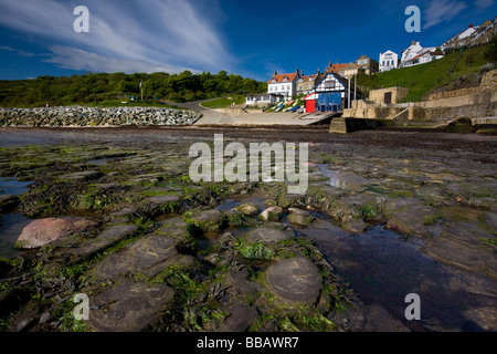
[[[421, 252], [423, 240], [404, 240], [381, 226], [349, 235], [327, 220], [299, 231], [318, 244], [367, 305], [381, 304], [405, 325], [412, 324], [404, 316], [405, 296], [416, 293], [425, 330], [495, 330], [495, 281], [435, 261]], [[488, 319], [477, 323], [482, 311], [488, 311]]]

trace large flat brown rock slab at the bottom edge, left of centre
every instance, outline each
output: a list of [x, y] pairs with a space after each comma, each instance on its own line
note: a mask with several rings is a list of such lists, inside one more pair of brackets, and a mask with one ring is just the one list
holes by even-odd
[[123, 279], [92, 296], [89, 324], [98, 332], [140, 332], [158, 319], [175, 291], [163, 283]]

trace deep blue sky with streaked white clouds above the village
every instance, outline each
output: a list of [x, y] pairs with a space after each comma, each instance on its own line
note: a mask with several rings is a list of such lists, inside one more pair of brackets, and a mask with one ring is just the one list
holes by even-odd
[[[77, 6], [89, 32], [76, 33]], [[408, 33], [409, 6], [421, 33]], [[266, 81], [331, 60], [442, 44], [497, 15], [497, 0], [1, 0], [0, 80], [83, 72], [229, 73]]]

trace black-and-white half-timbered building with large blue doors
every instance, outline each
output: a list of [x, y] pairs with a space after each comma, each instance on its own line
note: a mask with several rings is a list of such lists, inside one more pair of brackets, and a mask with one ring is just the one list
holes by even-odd
[[[353, 84], [349, 92], [349, 81], [328, 72], [318, 79], [315, 87], [317, 112], [340, 112], [348, 107], [349, 94], [352, 101], [362, 96]], [[356, 98], [357, 95], [357, 98]]]

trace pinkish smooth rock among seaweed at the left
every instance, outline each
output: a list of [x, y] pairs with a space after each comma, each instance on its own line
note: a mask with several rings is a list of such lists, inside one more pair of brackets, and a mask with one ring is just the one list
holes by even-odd
[[78, 219], [41, 219], [29, 223], [15, 242], [17, 248], [40, 248], [74, 232], [94, 226], [94, 221]]

